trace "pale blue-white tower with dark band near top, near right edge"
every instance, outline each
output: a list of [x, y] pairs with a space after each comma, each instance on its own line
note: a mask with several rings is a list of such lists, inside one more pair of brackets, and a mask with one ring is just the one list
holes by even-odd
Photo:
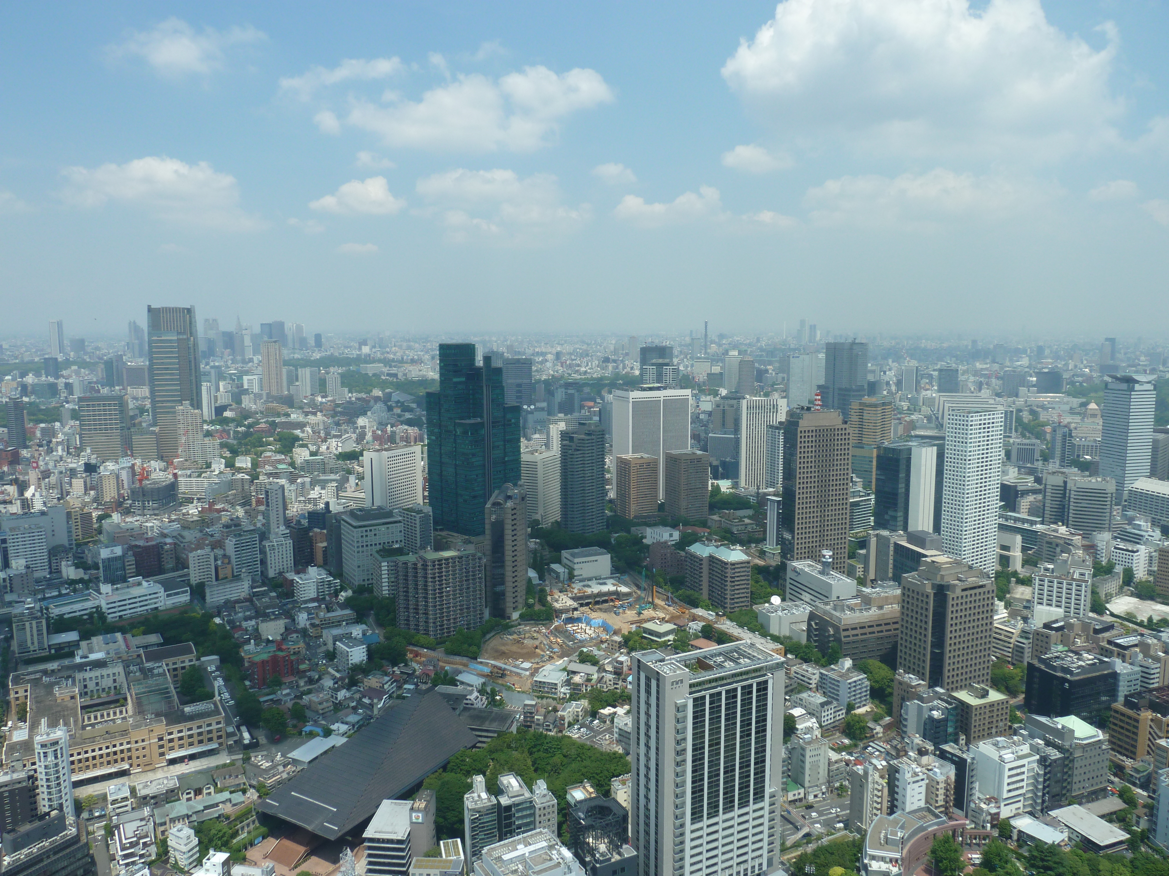
[[1149, 475], [1157, 399], [1153, 380], [1153, 375], [1109, 375], [1104, 384], [1100, 475], [1116, 481], [1118, 503], [1137, 478]]

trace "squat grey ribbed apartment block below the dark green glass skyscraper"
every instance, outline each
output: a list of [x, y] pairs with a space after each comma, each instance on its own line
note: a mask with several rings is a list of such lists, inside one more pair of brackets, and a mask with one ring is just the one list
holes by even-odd
[[[392, 596], [402, 630], [434, 639], [475, 630], [486, 617], [485, 559], [475, 550], [421, 550], [385, 557], [382, 592]], [[526, 573], [526, 570], [525, 570]]]

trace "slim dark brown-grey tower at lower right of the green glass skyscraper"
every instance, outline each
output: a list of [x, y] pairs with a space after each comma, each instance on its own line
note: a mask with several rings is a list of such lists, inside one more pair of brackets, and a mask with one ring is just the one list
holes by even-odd
[[527, 489], [504, 484], [483, 514], [491, 617], [516, 620], [527, 598]]

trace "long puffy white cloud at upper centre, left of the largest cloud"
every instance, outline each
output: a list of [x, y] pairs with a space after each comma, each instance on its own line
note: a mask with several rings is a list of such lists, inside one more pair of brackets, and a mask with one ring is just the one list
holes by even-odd
[[459, 75], [419, 102], [383, 98], [390, 105], [355, 100], [346, 121], [389, 146], [466, 152], [532, 152], [551, 142], [568, 116], [614, 99], [595, 70], [555, 74], [545, 67], [498, 81]]

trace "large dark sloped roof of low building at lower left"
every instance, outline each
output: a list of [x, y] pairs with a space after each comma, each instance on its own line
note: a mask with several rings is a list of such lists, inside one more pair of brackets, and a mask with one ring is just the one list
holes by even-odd
[[272, 791], [260, 811], [336, 840], [476, 742], [438, 694], [423, 690]]

